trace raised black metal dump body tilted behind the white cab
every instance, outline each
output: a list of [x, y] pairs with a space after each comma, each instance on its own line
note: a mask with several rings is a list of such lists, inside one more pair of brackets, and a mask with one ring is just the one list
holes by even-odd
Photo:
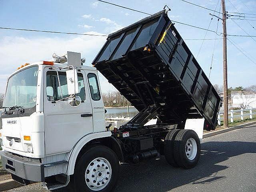
[[130, 124], [204, 117], [215, 128], [220, 97], [165, 11], [110, 34], [92, 64], [140, 112]]

